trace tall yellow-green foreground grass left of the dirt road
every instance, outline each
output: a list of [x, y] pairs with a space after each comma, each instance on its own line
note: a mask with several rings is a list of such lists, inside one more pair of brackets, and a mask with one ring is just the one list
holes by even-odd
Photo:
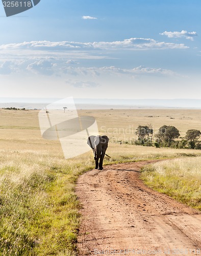
[[74, 186], [92, 160], [30, 150], [0, 150], [0, 156], [0, 255], [75, 255]]

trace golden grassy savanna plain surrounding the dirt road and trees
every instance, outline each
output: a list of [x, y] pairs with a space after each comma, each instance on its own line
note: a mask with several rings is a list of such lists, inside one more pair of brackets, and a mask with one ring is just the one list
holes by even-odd
[[[110, 138], [111, 158], [106, 157], [104, 164], [173, 159], [144, 168], [142, 178], [149, 186], [200, 208], [201, 151], [116, 142], [131, 141], [138, 124], [149, 123], [155, 132], [163, 124], [174, 125], [184, 137], [188, 129], [200, 129], [199, 110], [78, 112], [94, 116], [99, 133]], [[66, 160], [59, 141], [41, 137], [38, 110], [0, 109], [0, 159], [0, 255], [76, 255], [81, 205], [74, 187], [77, 178], [94, 167], [92, 152]], [[184, 183], [179, 183], [181, 179]], [[176, 195], [179, 189], [181, 196]]]

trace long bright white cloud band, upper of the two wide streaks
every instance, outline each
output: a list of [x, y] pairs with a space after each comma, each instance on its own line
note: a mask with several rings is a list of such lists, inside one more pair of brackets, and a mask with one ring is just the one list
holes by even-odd
[[[159, 42], [151, 38], [130, 38], [113, 42], [71, 42], [71, 41], [31, 41], [19, 44], [0, 45], [0, 50], [39, 50], [39, 51], [88, 51], [88, 50], [153, 50], [153, 49], [186, 49], [184, 44]], [[58, 54], [58, 53], [57, 53]]]

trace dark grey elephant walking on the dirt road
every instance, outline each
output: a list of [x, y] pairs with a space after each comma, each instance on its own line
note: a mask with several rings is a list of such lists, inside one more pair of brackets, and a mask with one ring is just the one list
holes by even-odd
[[[109, 138], [106, 135], [91, 135], [87, 139], [87, 144], [92, 148], [95, 160], [95, 169], [103, 169], [103, 159], [108, 147]], [[100, 160], [99, 160], [100, 159]], [[98, 164], [99, 160], [99, 164]]]

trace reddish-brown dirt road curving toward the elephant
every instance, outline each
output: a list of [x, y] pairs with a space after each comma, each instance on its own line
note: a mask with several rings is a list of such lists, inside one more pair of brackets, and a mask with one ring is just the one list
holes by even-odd
[[91, 170], [77, 183], [80, 255], [201, 255], [201, 214], [147, 188], [147, 162]]

